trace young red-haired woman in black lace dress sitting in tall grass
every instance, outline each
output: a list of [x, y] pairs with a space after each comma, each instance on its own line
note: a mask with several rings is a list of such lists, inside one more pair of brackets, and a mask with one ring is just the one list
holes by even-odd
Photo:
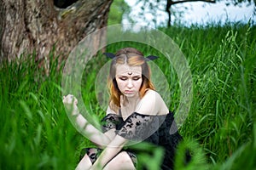
[[[161, 168], [172, 169], [175, 149], [182, 137], [177, 130], [171, 132], [171, 127], [176, 128], [173, 114], [154, 90], [148, 58], [136, 48], [123, 48], [107, 55], [113, 60], [108, 76], [107, 116], [102, 119], [103, 133], [89, 125], [77, 109], [73, 111], [79, 126], [99, 146], [87, 149], [76, 169], [136, 169], [139, 163], [136, 154], [127, 147], [124, 149], [132, 141], [164, 147]], [[72, 96], [64, 97], [63, 102], [67, 104], [68, 99]], [[75, 100], [74, 107], [76, 104]]]

